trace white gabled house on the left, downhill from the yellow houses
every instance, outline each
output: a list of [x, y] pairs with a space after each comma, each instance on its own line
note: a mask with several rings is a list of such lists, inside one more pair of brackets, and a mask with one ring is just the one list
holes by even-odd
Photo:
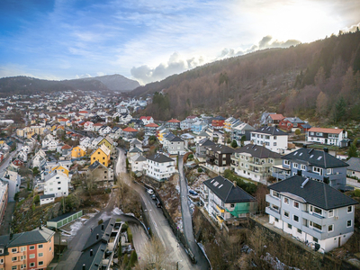
[[54, 194], [55, 197], [68, 195], [69, 178], [66, 174], [54, 171], [44, 178], [44, 195]]

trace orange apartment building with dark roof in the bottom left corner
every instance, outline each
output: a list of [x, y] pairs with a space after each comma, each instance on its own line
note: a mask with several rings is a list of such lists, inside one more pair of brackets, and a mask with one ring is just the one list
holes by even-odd
[[0, 269], [45, 270], [54, 258], [54, 234], [47, 228], [0, 236]]

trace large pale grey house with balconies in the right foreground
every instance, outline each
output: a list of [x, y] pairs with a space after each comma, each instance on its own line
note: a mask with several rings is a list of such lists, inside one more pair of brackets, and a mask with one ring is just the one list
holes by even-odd
[[269, 223], [315, 250], [329, 252], [353, 235], [358, 202], [329, 184], [294, 175], [268, 188]]

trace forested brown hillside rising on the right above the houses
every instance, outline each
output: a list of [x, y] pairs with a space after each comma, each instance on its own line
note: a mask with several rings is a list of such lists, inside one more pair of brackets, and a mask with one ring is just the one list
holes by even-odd
[[131, 94], [158, 95], [147, 112], [156, 119], [191, 113], [233, 114], [251, 121], [280, 112], [311, 121], [360, 117], [360, 32], [288, 49], [227, 58], [140, 86]]

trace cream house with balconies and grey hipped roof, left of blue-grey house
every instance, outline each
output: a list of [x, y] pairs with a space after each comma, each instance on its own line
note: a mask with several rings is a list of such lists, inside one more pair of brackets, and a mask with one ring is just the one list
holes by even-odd
[[263, 146], [248, 144], [231, 155], [231, 168], [239, 176], [266, 183], [272, 168], [283, 164], [281, 155]]

